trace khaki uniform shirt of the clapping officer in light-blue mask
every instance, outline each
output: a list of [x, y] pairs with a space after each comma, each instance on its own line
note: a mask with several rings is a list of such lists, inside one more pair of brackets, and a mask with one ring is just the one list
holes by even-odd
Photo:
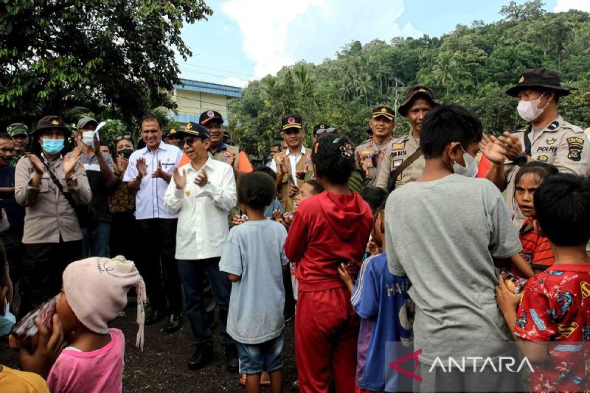
[[[49, 161], [55, 177], [60, 181], [64, 191], [71, 193], [80, 204], [89, 204], [92, 197], [84, 167], [76, 168], [77, 185], [70, 187], [65, 181], [63, 159]], [[60, 235], [64, 242], [82, 239], [80, 223], [71, 204], [55, 186], [47, 169], [41, 176], [38, 188], [32, 187], [30, 181], [35, 174], [31, 160], [22, 157], [15, 171], [14, 199], [25, 207], [25, 228], [22, 242], [59, 243]]]

